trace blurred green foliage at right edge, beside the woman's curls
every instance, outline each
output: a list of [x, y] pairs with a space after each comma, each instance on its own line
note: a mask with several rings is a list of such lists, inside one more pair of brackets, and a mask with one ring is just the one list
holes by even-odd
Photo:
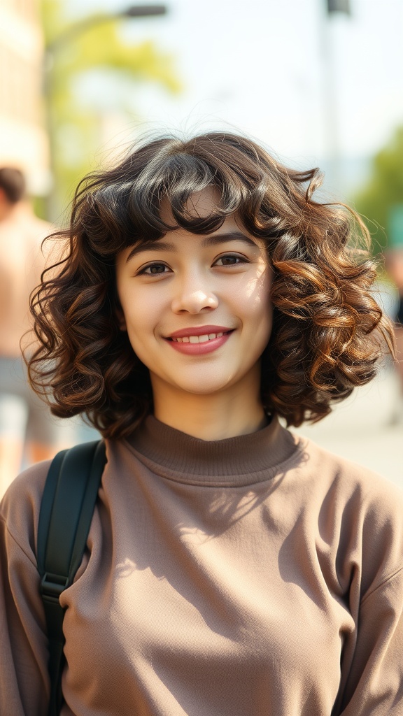
[[355, 205], [372, 236], [374, 253], [388, 246], [388, 215], [392, 206], [403, 203], [403, 127], [372, 161], [368, 183], [356, 195]]

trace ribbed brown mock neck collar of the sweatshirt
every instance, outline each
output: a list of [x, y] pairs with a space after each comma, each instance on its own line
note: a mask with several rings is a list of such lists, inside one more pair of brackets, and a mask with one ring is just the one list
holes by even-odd
[[225, 440], [201, 440], [148, 415], [126, 441], [157, 474], [180, 482], [242, 485], [274, 476], [295, 458], [300, 440], [278, 419], [262, 430]]

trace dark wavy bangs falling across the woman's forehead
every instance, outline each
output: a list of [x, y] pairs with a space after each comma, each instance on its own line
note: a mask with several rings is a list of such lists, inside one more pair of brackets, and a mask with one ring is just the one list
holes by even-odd
[[[94, 208], [104, 226], [110, 226], [113, 214], [110, 244], [115, 251], [142, 240], [156, 241], [177, 228], [212, 233], [233, 214], [258, 235], [256, 219], [267, 193], [267, 170], [241, 146], [231, 149], [212, 141], [203, 146], [196, 140], [166, 139], [131, 155], [115, 181], [109, 176], [108, 183], [93, 193]], [[208, 216], [201, 217], [191, 199], [205, 190], [214, 190], [217, 203]]]

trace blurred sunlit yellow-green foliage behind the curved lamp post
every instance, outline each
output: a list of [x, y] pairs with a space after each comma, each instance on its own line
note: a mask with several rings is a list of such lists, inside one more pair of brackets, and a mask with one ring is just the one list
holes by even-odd
[[[173, 58], [163, 54], [152, 42], [133, 46], [120, 35], [123, 22], [96, 14], [68, 25], [63, 16], [63, 0], [42, 0], [42, 22], [47, 47], [45, 110], [49, 126], [54, 188], [47, 213], [60, 220], [62, 208], [71, 200], [78, 181], [93, 168], [93, 157], [100, 147], [103, 109], [90, 107], [80, 97], [77, 84], [90, 72], [105, 72], [130, 88], [131, 101], [114, 97], [109, 111], [136, 117], [133, 96], [139, 82], [153, 82], [169, 92], [178, 92], [179, 82]], [[98, 77], [99, 79], [99, 77]], [[105, 84], [108, 86], [108, 82]], [[118, 105], [116, 104], [118, 102]]]

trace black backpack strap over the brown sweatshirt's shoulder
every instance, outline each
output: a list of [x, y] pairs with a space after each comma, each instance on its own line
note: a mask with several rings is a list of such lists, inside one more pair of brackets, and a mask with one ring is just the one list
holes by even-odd
[[64, 609], [59, 597], [80, 566], [105, 466], [102, 440], [57, 453], [47, 473], [39, 512], [37, 563], [49, 638], [48, 716], [62, 707]]

